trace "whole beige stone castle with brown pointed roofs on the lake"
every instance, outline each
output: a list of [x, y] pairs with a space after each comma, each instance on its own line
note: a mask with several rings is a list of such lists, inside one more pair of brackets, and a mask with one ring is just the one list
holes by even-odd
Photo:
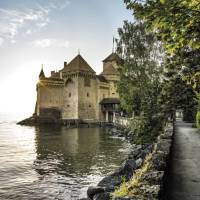
[[103, 60], [103, 72], [96, 72], [78, 54], [64, 62], [59, 72], [46, 77], [43, 69], [37, 83], [35, 115], [61, 120], [112, 121], [119, 106], [116, 82], [122, 59], [112, 53]]

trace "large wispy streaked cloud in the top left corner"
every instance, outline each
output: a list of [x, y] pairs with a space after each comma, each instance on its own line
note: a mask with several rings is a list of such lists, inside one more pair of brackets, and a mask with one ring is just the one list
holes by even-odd
[[37, 5], [37, 9], [21, 10], [0, 8], [0, 37], [12, 41], [20, 31], [30, 35], [50, 23], [50, 13], [62, 10], [70, 4], [69, 0], [49, 0], [46, 5]]

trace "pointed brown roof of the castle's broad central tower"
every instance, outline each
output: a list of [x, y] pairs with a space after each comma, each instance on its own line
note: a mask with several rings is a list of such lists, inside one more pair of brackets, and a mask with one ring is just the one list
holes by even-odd
[[77, 55], [67, 66], [63, 72], [84, 72], [95, 74], [95, 71], [89, 66], [81, 55]]

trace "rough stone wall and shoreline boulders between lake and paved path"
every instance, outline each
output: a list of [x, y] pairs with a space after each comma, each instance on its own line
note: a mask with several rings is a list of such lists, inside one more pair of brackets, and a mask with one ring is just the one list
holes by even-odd
[[[120, 130], [113, 130], [119, 136], [123, 135]], [[129, 131], [125, 130], [125, 133], [131, 139]], [[118, 170], [103, 178], [97, 186], [88, 188], [88, 198], [85, 200], [161, 199], [172, 135], [173, 126], [170, 123], [154, 144], [134, 145]], [[137, 185], [131, 184], [134, 179], [137, 179]], [[113, 196], [114, 190], [124, 182], [127, 182], [128, 194], [123, 197]]]

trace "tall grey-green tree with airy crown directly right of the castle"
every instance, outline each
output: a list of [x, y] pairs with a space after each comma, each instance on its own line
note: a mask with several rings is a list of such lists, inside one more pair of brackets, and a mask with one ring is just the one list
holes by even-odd
[[132, 128], [138, 142], [150, 142], [158, 126], [161, 92], [162, 49], [154, 34], [142, 22], [124, 22], [118, 29], [117, 52], [124, 60], [120, 68], [118, 92], [122, 107], [134, 113]]

